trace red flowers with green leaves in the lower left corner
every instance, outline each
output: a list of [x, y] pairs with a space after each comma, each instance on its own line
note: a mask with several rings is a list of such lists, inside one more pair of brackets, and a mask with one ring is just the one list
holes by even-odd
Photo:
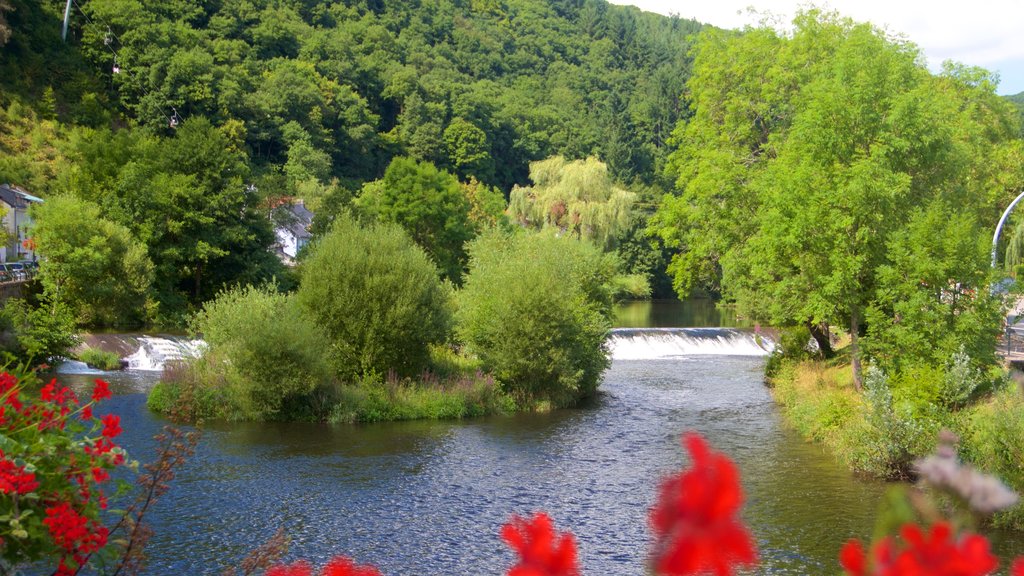
[[[124, 452], [112, 441], [121, 434], [121, 420], [92, 418], [93, 404], [111, 397], [103, 380], [96, 380], [84, 406], [55, 379], [38, 396], [25, 394], [32, 381], [31, 374], [26, 380], [0, 374], [0, 434], [13, 441], [0, 451], [0, 495], [34, 496], [0, 498], [0, 513], [12, 518], [9, 528], [0, 527], [2, 540], [17, 541], [0, 545], [0, 562], [48, 556], [58, 561], [57, 574], [74, 574], [108, 542], [110, 533], [99, 522], [99, 510], [106, 506], [101, 485], [110, 480], [109, 470], [124, 462]], [[29, 515], [42, 523], [16, 522]]]

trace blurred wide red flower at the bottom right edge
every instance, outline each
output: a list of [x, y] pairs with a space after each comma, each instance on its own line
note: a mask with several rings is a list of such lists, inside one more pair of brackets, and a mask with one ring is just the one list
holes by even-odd
[[954, 538], [946, 523], [936, 524], [928, 534], [908, 524], [900, 533], [905, 546], [897, 546], [892, 538], [882, 539], [871, 550], [870, 570], [863, 545], [857, 540], [843, 547], [840, 564], [852, 576], [984, 576], [999, 565], [983, 536]]

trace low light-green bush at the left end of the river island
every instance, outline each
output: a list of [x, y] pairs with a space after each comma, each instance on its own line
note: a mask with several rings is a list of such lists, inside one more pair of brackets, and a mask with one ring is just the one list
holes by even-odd
[[204, 377], [226, 382], [248, 419], [323, 417], [308, 411], [317, 404], [311, 396], [332, 388], [327, 340], [294, 295], [273, 287], [228, 290], [203, 306], [193, 328], [209, 346], [198, 361], [206, 363]]

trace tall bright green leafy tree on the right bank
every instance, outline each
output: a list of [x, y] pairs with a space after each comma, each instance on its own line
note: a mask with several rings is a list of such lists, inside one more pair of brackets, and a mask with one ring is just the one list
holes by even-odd
[[994, 221], [1015, 188], [1007, 149], [1017, 127], [984, 71], [933, 75], [913, 44], [835, 13], [794, 24], [701, 36], [688, 84], [695, 115], [670, 158], [680, 194], [654, 227], [680, 250], [681, 293], [721, 289], [754, 318], [806, 324], [826, 352], [828, 326], [845, 326], [859, 382], [865, 313], [900, 321], [876, 305], [895, 286], [880, 270], [909, 261], [893, 261], [894, 235], [938, 200], [950, 215]]

